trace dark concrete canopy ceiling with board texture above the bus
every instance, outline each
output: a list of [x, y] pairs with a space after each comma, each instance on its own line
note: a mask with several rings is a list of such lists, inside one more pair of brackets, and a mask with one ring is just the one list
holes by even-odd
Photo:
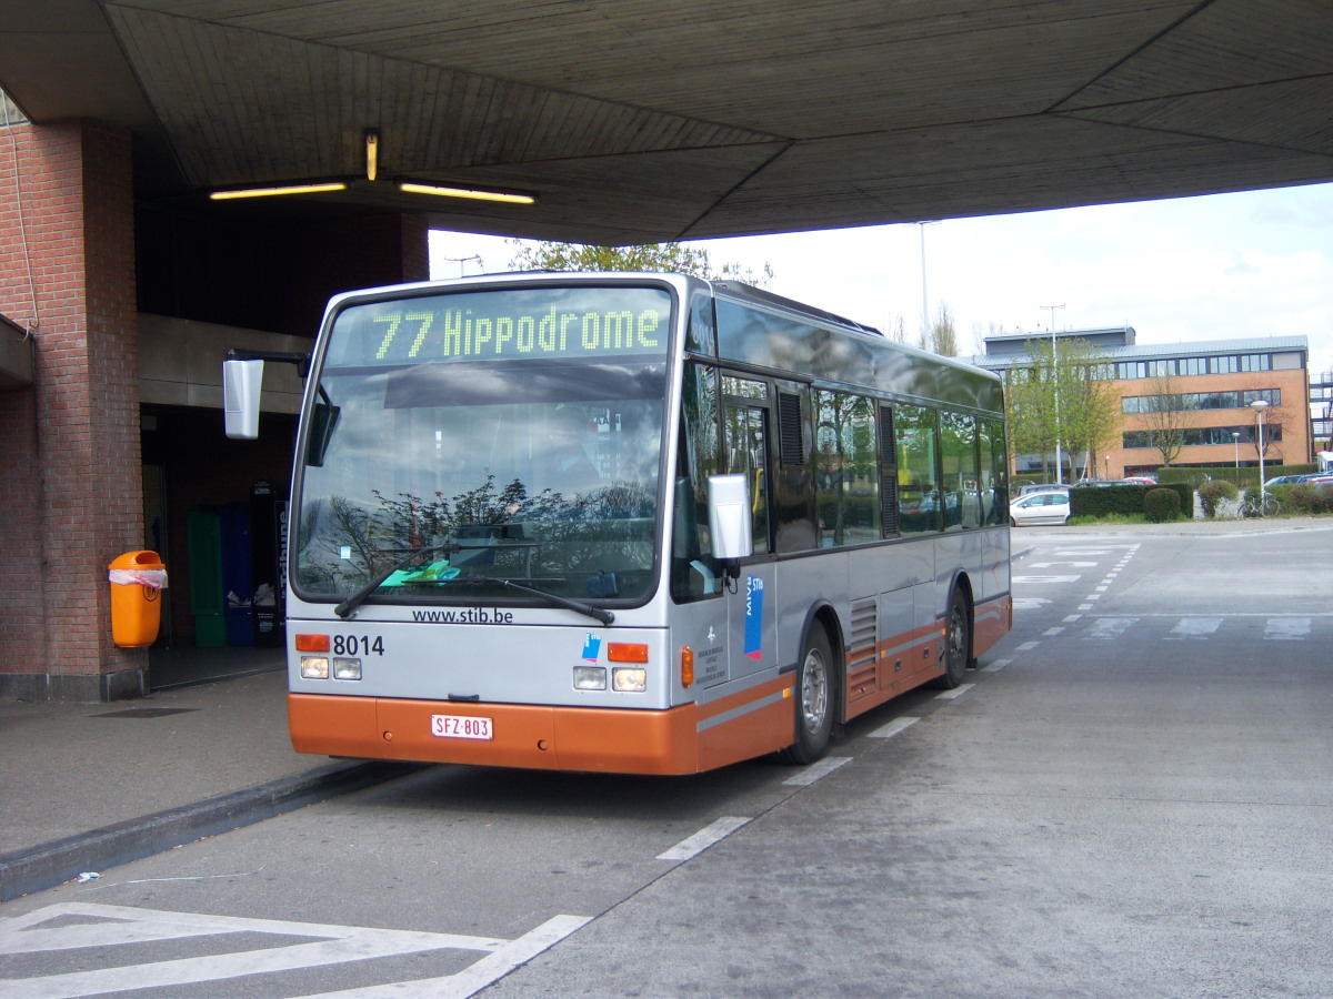
[[1333, 180], [1328, 0], [5, 0], [0, 87], [132, 129], [144, 201], [583, 242]]

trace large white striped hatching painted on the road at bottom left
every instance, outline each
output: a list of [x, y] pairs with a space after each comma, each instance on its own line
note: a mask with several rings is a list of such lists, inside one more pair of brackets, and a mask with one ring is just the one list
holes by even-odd
[[[44, 923], [80, 918], [88, 922], [44, 927]], [[197, 986], [247, 975], [275, 974], [327, 964], [424, 954], [440, 950], [481, 951], [487, 958], [457, 975], [392, 983], [372, 990], [329, 995], [429, 995], [463, 999], [495, 982], [508, 970], [564, 939], [591, 916], [556, 916], [516, 940], [459, 934], [379, 930], [363, 926], [296, 923], [279, 919], [165, 912], [131, 906], [65, 902], [25, 916], [0, 920], [0, 954], [116, 947], [152, 940], [192, 939], [220, 934], [268, 934], [280, 938], [317, 938], [313, 943], [277, 944], [235, 954], [211, 954], [143, 964], [121, 964], [92, 971], [71, 971], [36, 978], [0, 979], [7, 999], [79, 999], [107, 992], [141, 992], [169, 986]], [[383, 990], [392, 990], [383, 991]], [[424, 991], [423, 991], [424, 990]]]

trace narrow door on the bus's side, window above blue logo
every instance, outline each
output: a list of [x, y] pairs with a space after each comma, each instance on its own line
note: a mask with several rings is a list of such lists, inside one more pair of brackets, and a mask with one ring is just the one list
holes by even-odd
[[[724, 413], [724, 472], [744, 474], [750, 489], [754, 555], [741, 563], [734, 593], [726, 601], [730, 677], [774, 669], [777, 658], [777, 563], [772, 561], [769, 494], [769, 409], [765, 382], [728, 377], [726, 394], [737, 386], [746, 398], [726, 398]], [[762, 390], [762, 396], [757, 396]], [[764, 400], [764, 401], [760, 401]]]

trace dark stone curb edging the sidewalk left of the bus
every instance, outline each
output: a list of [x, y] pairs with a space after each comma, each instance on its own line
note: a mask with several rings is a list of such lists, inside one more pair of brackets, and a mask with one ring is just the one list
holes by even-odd
[[404, 777], [415, 763], [331, 763], [0, 856], [0, 902]]

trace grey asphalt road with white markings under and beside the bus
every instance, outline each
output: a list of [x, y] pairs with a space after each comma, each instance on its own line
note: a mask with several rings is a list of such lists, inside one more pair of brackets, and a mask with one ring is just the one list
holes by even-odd
[[435, 767], [0, 910], [0, 994], [1333, 995], [1333, 526], [1020, 529], [809, 770]]

